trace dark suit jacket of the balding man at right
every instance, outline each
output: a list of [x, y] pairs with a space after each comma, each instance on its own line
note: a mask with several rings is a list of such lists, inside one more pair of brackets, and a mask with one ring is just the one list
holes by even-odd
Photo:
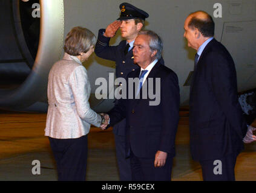
[[189, 130], [195, 160], [220, 159], [243, 150], [247, 126], [238, 103], [234, 61], [215, 39], [206, 45], [194, 71]]

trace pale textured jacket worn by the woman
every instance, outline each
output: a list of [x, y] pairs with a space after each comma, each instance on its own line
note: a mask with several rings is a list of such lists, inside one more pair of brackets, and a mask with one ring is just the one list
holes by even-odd
[[67, 53], [51, 68], [47, 89], [45, 136], [79, 138], [89, 132], [90, 124], [100, 126], [101, 116], [91, 110], [88, 102], [91, 87], [87, 70]]

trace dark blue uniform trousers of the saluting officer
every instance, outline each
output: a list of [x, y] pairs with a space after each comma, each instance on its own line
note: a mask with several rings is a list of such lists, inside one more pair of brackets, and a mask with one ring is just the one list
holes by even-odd
[[125, 136], [114, 134], [116, 144], [116, 158], [119, 169], [119, 179], [121, 181], [131, 181], [130, 158], [125, 158]]

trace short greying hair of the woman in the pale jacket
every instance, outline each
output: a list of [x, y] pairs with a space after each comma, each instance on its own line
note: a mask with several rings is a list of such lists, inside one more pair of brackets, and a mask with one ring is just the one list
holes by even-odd
[[87, 52], [92, 45], [96, 44], [95, 35], [87, 28], [74, 27], [67, 34], [64, 51], [70, 55], [79, 55]]

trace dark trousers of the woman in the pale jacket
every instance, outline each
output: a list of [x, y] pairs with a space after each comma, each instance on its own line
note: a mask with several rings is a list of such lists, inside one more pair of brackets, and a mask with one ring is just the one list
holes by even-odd
[[87, 135], [76, 139], [49, 137], [49, 141], [57, 164], [58, 180], [85, 180], [88, 154]]

